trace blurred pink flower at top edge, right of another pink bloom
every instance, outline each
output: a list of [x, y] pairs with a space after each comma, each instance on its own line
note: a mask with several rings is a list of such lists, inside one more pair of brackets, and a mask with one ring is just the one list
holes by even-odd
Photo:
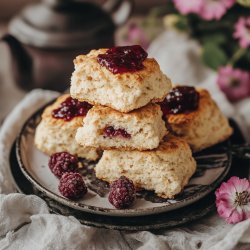
[[235, 0], [204, 0], [198, 14], [205, 20], [220, 20], [234, 3]]

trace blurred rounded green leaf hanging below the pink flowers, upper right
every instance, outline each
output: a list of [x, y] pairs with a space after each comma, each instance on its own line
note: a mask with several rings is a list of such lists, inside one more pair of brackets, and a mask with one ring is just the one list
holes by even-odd
[[210, 42], [203, 47], [202, 59], [208, 67], [215, 70], [228, 61], [227, 55], [222, 48], [218, 44]]

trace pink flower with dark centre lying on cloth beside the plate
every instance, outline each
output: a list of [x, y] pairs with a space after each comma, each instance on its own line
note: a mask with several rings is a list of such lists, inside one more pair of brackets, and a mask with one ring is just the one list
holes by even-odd
[[250, 218], [250, 181], [233, 176], [216, 190], [216, 207], [227, 223]]

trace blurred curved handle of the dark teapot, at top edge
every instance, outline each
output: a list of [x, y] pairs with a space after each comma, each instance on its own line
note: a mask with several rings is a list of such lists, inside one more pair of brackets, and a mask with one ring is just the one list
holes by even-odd
[[133, 0], [108, 0], [103, 4], [103, 9], [110, 13], [116, 26], [128, 20], [133, 7]]

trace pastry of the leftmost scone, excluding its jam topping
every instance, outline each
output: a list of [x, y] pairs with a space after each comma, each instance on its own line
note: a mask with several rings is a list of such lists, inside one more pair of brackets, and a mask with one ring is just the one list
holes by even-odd
[[76, 130], [82, 126], [84, 116], [76, 116], [68, 121], [52, 116], [53, 110], [58, 109], [67, 98], [70, 96], [60, 96], [44, 110], [42, 120], [36, 128], [35, 145], [48, 155], [67, 151], [78, 157], [96, 160], [99, 157], [96, 149], [79, 146], [75, 141]]

